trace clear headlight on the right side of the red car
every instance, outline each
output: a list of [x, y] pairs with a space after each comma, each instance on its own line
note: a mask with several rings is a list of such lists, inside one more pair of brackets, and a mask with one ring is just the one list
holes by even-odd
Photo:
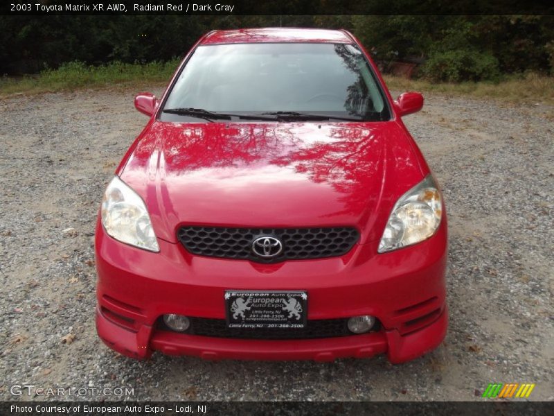
[[379, 243], [379, 253], [396, 250], [429, 239], [443, 214], [440, 191], [431, 175], [396, 202]]

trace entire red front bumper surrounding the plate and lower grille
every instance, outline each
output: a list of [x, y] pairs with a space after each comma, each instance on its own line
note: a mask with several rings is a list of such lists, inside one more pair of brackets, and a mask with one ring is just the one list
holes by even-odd
[[[446, 225], [431, 239], [386, 254], [371, 243], [343, 257], [259, 264], [189, 254], [159, 240], [152, 253], [96, 229], [98, 335], [134, 358], [152, 352], [206, 359], [332, 361], [386, 353], [402, 363], [436, 348], [447, 331]], [[165, 313], [224, 319], [224, 291], [305, 290], [308, 320], [374, 315], [382, 329], [306, 340], [213, 338], [157, 329]]]

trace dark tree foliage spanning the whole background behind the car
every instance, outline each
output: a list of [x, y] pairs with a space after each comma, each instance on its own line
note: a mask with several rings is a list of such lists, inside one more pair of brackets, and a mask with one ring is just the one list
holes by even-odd
[[[292, 1], [292, 0], [290, 0]], [[554, 70], [553, 16], [0, 16], [0, 73], [64, 62], [164, 61], [215, 28], [346, 28], [382, 62], [422, 63], [434, 80], [494, 79]]]

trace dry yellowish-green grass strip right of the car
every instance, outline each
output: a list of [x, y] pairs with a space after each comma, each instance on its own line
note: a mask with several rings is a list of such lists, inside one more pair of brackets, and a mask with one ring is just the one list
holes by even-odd
[[480, 81], [456, 84], [408, 80], [396, 76], [384, 76], [384, 78], [388, 88], [395, 91], [440, 92], [475, 98], [496, 98], [510, 103], [554, 104], [554, 77], [537, 73], [507, 76], [498, 82]]

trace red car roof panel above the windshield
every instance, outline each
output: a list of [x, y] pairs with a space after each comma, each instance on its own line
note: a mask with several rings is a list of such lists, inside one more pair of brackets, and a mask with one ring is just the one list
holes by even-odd
[[277, 42], [354, 43], [346, 31], [307, 28], [251, 28], [213, 31], [204, 37], [201, 44]]

